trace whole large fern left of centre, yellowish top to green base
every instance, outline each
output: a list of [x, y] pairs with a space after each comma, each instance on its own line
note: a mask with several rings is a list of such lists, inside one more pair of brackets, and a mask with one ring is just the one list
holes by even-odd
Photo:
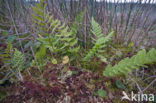
[[[33, 7], [35, 24], [39, 25], [39, 37], [37, 38], [51, 54], [75, 55], [80, 47], [77, 45], [76, 34], [58, 19], [54, 19], [46, 12], [44, 0]], [[42, 55], [42, 54], [41, 54]], [[53, 55], [54, 56], [54, 55]]]

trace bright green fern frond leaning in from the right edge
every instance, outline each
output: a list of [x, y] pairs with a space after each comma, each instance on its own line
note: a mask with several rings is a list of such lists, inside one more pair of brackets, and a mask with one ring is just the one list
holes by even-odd
[[156, 50], [151, 49], [148, 53], [143, 49], [131, 58], [125, 58], [121, 60], [115, 66], [108, 65], [103, 74], [107, 77], [127, 75], [134, 69], [144, 67], [146, 64], [152, 64], [156, 62]]

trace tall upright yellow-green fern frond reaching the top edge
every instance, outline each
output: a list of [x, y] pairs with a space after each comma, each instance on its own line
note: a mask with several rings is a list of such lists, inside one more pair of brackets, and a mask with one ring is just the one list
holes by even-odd
[[[33, 6], [34, 13], [32, 14], [33, 21], [36, 26], [36, 31], [42, 36], [49, 36], [59, 30], [61, 22], [54, 20], [53, 17], [47, 12], [47, 4], [45, 0], [41, 0], [36, 6]], [[53, 29], [52, 29], [53, 28]]]

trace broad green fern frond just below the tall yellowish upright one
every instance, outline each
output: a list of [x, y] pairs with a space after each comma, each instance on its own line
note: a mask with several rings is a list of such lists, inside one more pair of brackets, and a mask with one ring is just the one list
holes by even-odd
[[[49, 17], [49, 19], [52, 19], [52, 17]], [[49, 32], [48, 37], [40, 35], [37, 40], [42, 42], [52, 53], [56, 54], [61, 52], [62, 54], [67, 54], [75, 53], [79, 50], [79, 47], [75, 47], [78, 42], [78, 38], [76, 38], [76, 34], [69, 31], [68, 26], [65, 26], [65, 24], [61, 25], [59, 20], [51, 20], [51, 24], [48, 29], [52, 29], [51, 32]]]

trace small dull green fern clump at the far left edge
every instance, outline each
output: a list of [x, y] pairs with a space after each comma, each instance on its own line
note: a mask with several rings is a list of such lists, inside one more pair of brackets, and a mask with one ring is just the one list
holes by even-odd
[[25, 63], [24, 54], [16, 48], [13, 50], [12, 43], [9, 42], [6, 50], [1, 54], [1, 58], [4, 61], [4, 65], [0, 70], [5, 76], [0, 80], [0, 84], [7, 79], [12, 79], [13, 76], [15, 76], [16, 79], [23, 81], [22, 71], [24, 70]]

